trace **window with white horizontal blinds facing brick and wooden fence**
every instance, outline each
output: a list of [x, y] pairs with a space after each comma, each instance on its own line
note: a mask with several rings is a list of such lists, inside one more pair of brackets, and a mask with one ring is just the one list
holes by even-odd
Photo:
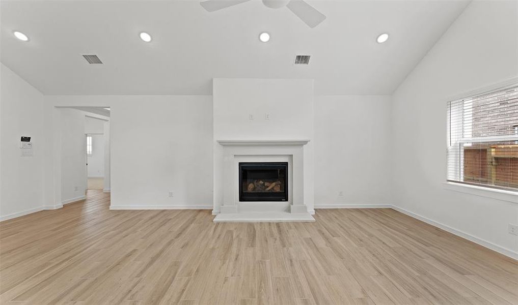
[[518, 191], [518, 85], [448, 102], [448, 181]]

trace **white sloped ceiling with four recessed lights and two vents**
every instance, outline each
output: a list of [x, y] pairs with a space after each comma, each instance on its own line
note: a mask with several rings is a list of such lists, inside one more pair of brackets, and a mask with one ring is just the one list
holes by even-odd
[[[2, 1], [1, 60], [48, 95], [205, 95], [212, 78], [310, 78], [316, 94], [391, 94], [469, 3], [306, 1], [327, 16], [315, 28], [260, 0], [211, 13], [195, 0]], [[263, 31], [270, 42], [258, 40]], [[389, 41], [376, 43], [383, 32]], [[312, 55], [309, 66], [294, 66], [295, 54]]]

